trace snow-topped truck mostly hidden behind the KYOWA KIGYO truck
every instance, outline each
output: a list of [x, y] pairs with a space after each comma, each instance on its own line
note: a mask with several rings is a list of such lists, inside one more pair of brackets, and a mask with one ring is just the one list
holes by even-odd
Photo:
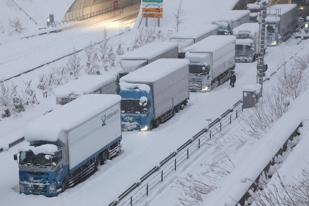
[[64, 105], [86, 94], [116, 94], [116, 77], [86, 75], [68, 82], [55, 90], [56, 104]]

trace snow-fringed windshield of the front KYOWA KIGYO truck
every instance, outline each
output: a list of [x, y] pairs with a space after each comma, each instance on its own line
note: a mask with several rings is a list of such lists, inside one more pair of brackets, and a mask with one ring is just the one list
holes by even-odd
[[33, 152], [20, 152], [19, 164], [23, 166], [50, 166], [50, 158], [49, 154], [39, 153], [35, 155]]

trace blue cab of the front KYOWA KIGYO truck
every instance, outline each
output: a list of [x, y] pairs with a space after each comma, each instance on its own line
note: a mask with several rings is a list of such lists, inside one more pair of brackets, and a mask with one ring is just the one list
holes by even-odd
[[[45, 146], [30, 145], [29, 148], [44, 151]], [[65, 187], [63, 179], [68, 174], [66, 160], [62, 158], [65, 148], [61, 145], [47, 146], [54, 147], [55, 151], [49, 150], [49, 153], [45, 150], [46, 152], [39, 154], [29, 148], [19, 151], [19, 193], [53, 197]], [[17, 154], [15, 160], [17, 160]]]

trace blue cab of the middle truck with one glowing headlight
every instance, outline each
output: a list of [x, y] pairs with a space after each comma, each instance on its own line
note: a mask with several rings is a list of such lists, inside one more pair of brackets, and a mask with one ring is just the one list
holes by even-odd
[[151, 86], [143, 85], [146, 88], [149, 87], [146, 91], [138, 86], [120, 90], [122, 131], [150, 129], [150, 123], [154, 117], [152, 89]]

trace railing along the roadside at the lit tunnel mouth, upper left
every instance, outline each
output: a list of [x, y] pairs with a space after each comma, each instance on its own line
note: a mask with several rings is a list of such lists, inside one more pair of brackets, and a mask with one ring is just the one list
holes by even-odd
[[59, 24], [59, 26], [60, 26], [61, 23], [64, 24], [64, 23], [75, 22], [75, 21], [82, 21], [82, 20], [91, 19], [91, 18], [94, 18], [94, 17], [99, 17], [99, 16], [102, 16], [102, 15], [105, 15], [105, 14], [108, 14], [108, 13], [111, 13], [111, 12], [119, 11], [121, 9], [124, 9], [127, 6], [132, 6], [132, 5], [140, 4], [140, 3], [141, 3], [141, 0], [131, 0], [129, 2], [123, 3], [122, 6], [120, 6], [117, 9], [114, 9], [114, 7], [108, 7], [108, 8], [99, 10], [99, 11], [92, 12], [90, 14], [85, 14], [83, 16], [75, 17], [73, 19], [68, 19], [66, 21], [62, 21], [62, 22], [59, 22], [59, 23], [52, 23], [48, 27], [51, 26], [51, 27], [55, 27], [56, 28], [57, 24]]

